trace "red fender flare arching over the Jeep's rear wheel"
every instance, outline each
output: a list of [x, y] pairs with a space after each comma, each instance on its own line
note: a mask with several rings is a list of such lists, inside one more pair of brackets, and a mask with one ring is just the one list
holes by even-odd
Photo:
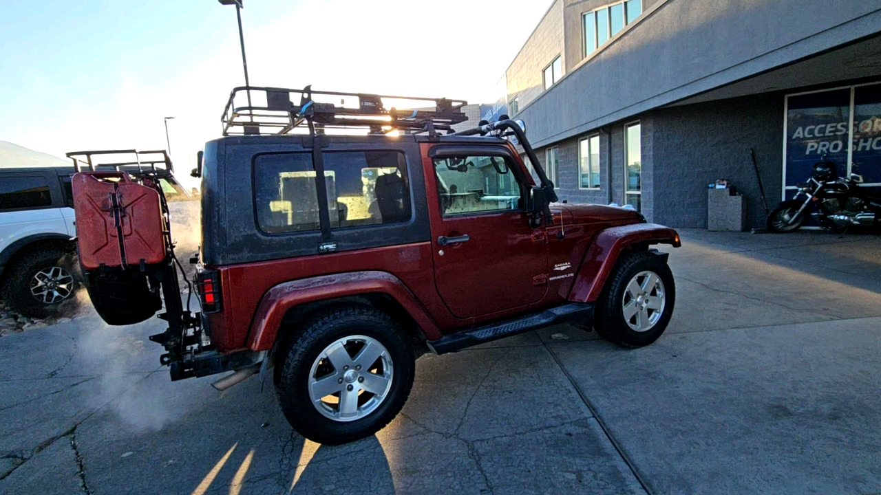
[[246, 346], [251, 351], [271, 350], [282, 319], [292, 307], [367, 293], [381, 293], [395, 299], [428, 340], [441, 338], [437, 323], [398, 277], [385, 271], [367, 270], [301, 278], [273, 286], [260, 299]]

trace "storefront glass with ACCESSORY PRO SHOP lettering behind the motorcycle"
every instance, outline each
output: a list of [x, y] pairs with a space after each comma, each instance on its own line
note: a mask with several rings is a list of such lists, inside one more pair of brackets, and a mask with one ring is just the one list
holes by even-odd
[[824, 156], [841, 177], [860, 174], [864, 186], [881, 187], [881, 84], [789, 95], [784, 125], [785, 197]]

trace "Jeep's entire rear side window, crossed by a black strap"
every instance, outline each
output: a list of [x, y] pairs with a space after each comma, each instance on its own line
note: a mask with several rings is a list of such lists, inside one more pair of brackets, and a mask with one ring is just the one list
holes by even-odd
[[[398, 151], [325, 151], [330, 228], [381, 225], [411, 218], [406, 160]], [[255, 157], [257, 224], [266, 233], [321, 230], [312, 154]]]

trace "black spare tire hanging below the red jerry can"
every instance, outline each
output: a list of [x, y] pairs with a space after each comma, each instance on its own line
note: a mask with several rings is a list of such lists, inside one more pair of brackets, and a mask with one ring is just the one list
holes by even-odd
[[162, 309], [158, 291], [151, 291], [147, 276], [138, 270], [85, 274], [92, 306], [108, 325], [134, 325]]

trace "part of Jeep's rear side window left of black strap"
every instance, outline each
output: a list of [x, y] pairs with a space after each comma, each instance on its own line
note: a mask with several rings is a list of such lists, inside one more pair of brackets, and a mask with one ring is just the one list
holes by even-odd
[[311, 153], [257, 155], [254, 188], [257, 225], [263, 232], [321, 230]]

